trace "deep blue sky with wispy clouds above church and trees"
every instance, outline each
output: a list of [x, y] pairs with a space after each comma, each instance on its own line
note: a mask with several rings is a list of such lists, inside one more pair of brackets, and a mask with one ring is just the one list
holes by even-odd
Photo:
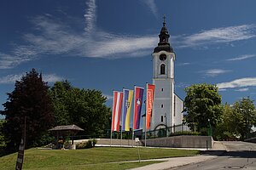
[[[152, 82], [152, 56], [166, 15], [176, 53], [176, 94], [217, 84], [223, 103], [256, 97], [256, 1], [3, 0], [0, 104], [32, 68], [52, 85], [113, 89]], [[3, 110], [3, 106], [0, 106]]]

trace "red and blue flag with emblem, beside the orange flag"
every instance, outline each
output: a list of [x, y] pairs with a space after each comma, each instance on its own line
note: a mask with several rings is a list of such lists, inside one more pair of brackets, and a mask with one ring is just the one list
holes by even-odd
[[133, 114], [133, 129], [140, 128], [141, 111], [143, 107], [143, 92], [144, 88], [135, 87], [134, 93], [134, 114]]

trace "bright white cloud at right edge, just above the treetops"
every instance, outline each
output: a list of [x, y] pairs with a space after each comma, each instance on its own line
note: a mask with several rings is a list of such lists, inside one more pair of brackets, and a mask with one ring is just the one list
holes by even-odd
[[236, 79], [231, 82], [221, 82], [217, 84], [218, 88], [245, 88], [256, 86], [256, 77], [246, 77]]

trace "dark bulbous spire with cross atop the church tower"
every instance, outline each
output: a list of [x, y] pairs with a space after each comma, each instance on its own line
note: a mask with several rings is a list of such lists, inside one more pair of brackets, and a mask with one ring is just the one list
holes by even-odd
[[154, 53], [160, 52], [161, 50], [165, 50], [173, 53], [172, 47], [169, 43], [170, 35], [166, 28], [166, 15], [164, 15], [163, 19], [164, 19], [163, 27], [161, 28], [161, 31], [160, 31], [158, 47], [154, 48]]

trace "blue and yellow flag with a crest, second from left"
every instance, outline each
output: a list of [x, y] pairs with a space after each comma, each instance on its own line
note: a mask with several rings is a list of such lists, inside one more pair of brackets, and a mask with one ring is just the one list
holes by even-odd
[[124, 94], [124, 99], [123, 99], [122, 130], [130, 131], [131, 102], [133, 97], [133, 90], [124, 89], [123, 94]]

